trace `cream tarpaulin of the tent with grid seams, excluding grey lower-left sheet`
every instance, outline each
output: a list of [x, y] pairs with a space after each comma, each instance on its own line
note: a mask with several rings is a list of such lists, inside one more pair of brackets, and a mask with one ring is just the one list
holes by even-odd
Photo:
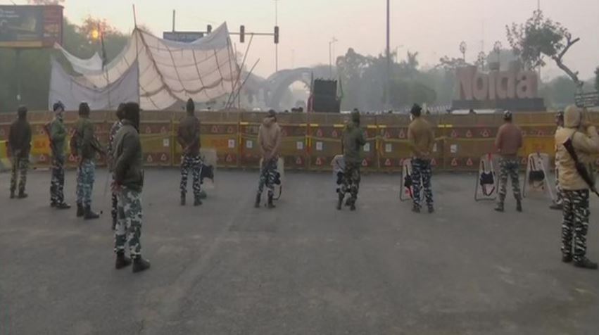
[[[137, 66], [139, 103], [147, 110], [169, 108], [189, 98], [206, 102], [230, 94], [238, 75], [226, 24], [193, 43], [167, 41], [136, 29], [125, 49], [103, 70], [93, 63], [86, 67], [85, 60], [75, 56], [66, 57], [84, 82], [96, 89], [118, 82]], [[51, 89], [61, 92], [69, 88]]]

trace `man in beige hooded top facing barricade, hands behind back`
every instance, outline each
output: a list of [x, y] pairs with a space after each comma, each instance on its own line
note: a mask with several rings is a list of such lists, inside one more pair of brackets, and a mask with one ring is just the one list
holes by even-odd
[[277, 123], [277, 112], [269, 110], [262, 125], [260, 125], [260, 129], [258, 129], [258, 146], [260, 147], [260, 153], [262, 153], [262, 169], [260, 170], [256, 203], [254, 203], [256, 208], [260, 208], [260, 199], [265, 186], [268, 190], [268, 208], [275, 208], [273, 197], [275, 196], [275, 178], [277, 177], [281, 141], [281, 127]]

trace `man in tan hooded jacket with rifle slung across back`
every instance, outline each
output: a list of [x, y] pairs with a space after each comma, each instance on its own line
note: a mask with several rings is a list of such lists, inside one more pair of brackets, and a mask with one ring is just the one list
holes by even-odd
[[[576, 159], [567, 151], [567, 142], [572, 144]], [[597, 269], [597, 263], [586, 258], [589, 189], [595, 187], [592, 156], [599, 153], [599, 135], [595, 126], [591, 125], [590, 115], [576, 106], [569, 106], [564, 113], [564, 127], [555, 134], [555, 144], [559, 153], [560, 188], [564, 199], [562, 262], [574, 260], [576, 267]], [[576, 163], [581, 164], [581, 170], [586, 170], [582, 173], [586, 173], [591, 185], [584, 179]]]

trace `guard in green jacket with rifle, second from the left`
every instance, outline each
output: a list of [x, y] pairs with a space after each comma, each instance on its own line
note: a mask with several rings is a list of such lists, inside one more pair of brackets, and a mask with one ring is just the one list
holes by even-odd
[[55, 116], [49, 125], [50, 147], [52, 150], [52, 178], [50, 180], [50, 206], [57, 209], [69, 209], [65, 203], [65, 140], [67, 129], [63, 120], [65, 106], [58, 101], [52, 106]]

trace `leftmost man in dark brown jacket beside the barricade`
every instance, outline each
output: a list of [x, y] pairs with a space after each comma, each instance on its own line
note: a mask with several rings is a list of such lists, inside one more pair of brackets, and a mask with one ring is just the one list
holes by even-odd
[[27, 184], [27, 169], [29, 168], [29, 152], [31, 150], [31, 126], [27, 122], [27, 107], [19, 106], [17, 114], [18, 118], [12, 123], [8, 134], [8, 151], [13, 158], [11, 199], [15, 198], [17, 189], [19, 191], [18, 198], [27, 198], [25, 184]]

